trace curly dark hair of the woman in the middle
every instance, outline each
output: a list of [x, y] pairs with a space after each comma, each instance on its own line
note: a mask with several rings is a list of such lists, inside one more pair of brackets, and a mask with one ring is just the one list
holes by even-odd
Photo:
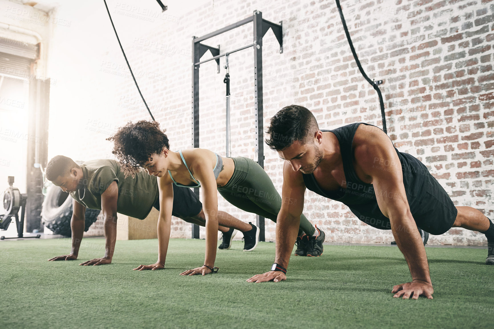
[[164, 132], [156, 121], [129, 121], [115, 135], [106, 139], [114, 142], [112, 153], [120, 161], [125, 176], [131, 174], [133, 177], [153, 153], [161, 154], [164, 147], [170, 149]]

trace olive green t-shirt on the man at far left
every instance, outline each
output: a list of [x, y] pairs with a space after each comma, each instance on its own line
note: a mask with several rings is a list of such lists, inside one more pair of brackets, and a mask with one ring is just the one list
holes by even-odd
[[101, 210], [101, 195], [114, 181], [119, 188], [117, 211], [144, 219], [158, 200], [158, 180], [140, 169], [135, 176], [125, 178], [115, 160], [91, 160], [81, 164], [82, 179], [78, 189], [70, 193], [82, 206]]

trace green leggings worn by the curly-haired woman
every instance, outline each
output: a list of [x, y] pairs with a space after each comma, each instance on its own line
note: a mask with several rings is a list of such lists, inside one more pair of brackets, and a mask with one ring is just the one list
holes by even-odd
[[[225, 186], [218, 187], [219, 194], [237, 208], [269, 218], [276, 223], [282, 199], [266, 171], [251, 159], [232, 159], [235, 171]], [[315, 230], [302, 214], [299, 235], [301, 231], [313, 235]]]

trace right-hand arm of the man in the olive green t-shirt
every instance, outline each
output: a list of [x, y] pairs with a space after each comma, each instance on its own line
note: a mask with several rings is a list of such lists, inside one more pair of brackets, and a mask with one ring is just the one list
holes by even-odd
[[105, 230], [105, 255], [101, 258], [94, 258], [83, 262], [80, 265], [103, 265], [112, 262], [117, 242], [117, 201], [119, 198], [119, 188], [116, 181], [101, 194], [101, 211], [104, 216]]

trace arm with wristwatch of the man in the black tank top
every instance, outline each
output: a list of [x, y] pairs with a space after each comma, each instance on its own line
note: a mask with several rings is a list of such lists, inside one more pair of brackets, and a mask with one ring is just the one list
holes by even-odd
[[[300, 215], [304, 208], [305, 184], [301, 172], [293, 171], [288, 162], [283, 165], [282, 206], [276, 219], [275, 262], [288, 268], [291, 250], [297, 239]], [[247, 282], [266, 282], [286, 280], [280, 271], [270, 271], [255, 275]]]

